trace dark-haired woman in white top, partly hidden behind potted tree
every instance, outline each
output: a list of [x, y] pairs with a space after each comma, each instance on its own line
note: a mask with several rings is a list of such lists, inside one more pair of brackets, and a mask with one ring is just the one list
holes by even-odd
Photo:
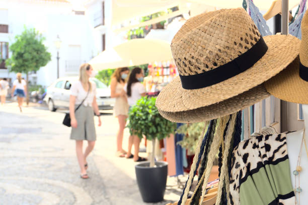
[[[129, 75], [127, 85], [125, 85], [125, 91], [127, 94], [127, 100], [129, 106], [133, 106], [136, 104], [137, 100], [139, 100], [142, 96], [145, 96], [145, 88], [142, 85], [143, 81], [143, 70], [141, 68], [134, 68]], [[131, 154], [131, 147], [134, 144], [134, 154]], [[139, 144], [140, 139], [138, 136], [133, 135], [129, 136], [128, 140], [128, 150], [126, 158], [134, 158], [134, 161], [145, 161], [145, 158], [139, 157]]]

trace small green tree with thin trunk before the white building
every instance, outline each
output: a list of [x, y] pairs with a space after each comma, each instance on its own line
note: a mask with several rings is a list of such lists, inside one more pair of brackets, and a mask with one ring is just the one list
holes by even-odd
[[[7, 59], [6, 64], [11, 72], [27, 75], [27, 90], [29, 73], [38, 71], [51, 60], [51, 54], [47, 52], [47, 47], [43, 44], [44, 40], [42, 34], [34, 28], [25, 27], [24, 32], [15, 36], [15, 43], [10, 46], [12, 56]], [[29, 104], [29, 95], [27, 95], [27, 104]]]

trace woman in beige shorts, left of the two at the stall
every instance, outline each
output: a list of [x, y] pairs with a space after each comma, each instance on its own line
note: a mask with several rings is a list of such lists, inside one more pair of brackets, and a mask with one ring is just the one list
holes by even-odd
[[117, 151], [116, 156], [124, 157], [126, 151], [122, 148], [124, 128], [126, 125], [126, 118], [128, 116], [128, 103], [126, 92], [124, 91], [125, 79], [127, 78], [129, 69], [127, 67], [118, 68], [111, 77], [110, 89], [111, 97], [116, 98], [114, 105], [114, 116], [118, 118], [119, 130], [117, 134]]

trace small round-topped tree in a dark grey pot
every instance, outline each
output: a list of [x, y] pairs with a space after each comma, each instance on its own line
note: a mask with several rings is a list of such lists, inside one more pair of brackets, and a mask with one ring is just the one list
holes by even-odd
[[173, 133], [176, 124], [163, 118], [156, 106], [156, 97], [142, 97], [129, 112], [129, 130], [139, 138], [146, 136], [152, 141], [150, 161], [135, 166], [138, 187], [144, 202], [164, 200], [167, 183], [168, 163], [155, 162], [155, 139], [163, 139]]

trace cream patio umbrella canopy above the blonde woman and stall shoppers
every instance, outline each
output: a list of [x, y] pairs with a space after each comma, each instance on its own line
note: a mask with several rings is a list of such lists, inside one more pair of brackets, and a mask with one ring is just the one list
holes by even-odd
[[89, 64], [95, 70], [138, 66], [154, 61], [172, 61], [170, 43], [157, 39], [133, 39], [107, 49]]

